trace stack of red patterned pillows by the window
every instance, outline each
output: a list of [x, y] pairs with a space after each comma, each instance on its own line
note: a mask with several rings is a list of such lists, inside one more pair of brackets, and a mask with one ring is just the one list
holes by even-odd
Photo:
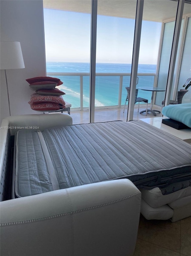
[[65, 102], [62, 95], [65, 93], [56, 86], [62, 85], [63, 82], [50, 76], [38, 76], [26, 79], [31, 90], [36, 91], [31, 95], [31, 109], [36, 111], [52, 111], [65, 108]]

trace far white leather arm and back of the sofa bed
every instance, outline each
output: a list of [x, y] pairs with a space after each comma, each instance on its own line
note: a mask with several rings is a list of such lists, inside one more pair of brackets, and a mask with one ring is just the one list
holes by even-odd
[[[18, 130], [43, 131], [47, 128], [72, 125], [72, 118], [65, 113], [17, 115], [4, 118], [0, 129], [0, 201], [10, 199], [12, 181], [12, 137]], [[12, 136], [12, 137], [11, 137]]]

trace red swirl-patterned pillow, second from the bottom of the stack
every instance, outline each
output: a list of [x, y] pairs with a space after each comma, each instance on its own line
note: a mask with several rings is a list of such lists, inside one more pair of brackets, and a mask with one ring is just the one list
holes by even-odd
[[65, 101], [63, 100], [62, 96], [40, 95], [38, 93], [33, 93], [31, 95], [29, 104], [31, 105], [32, 103], [45, 103], [45, 102], [58, 103], [60, 104], [60, 107], [65, 106]]

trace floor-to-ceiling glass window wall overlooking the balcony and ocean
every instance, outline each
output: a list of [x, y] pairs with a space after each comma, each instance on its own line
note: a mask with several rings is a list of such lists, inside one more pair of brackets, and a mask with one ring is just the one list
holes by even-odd
[[[93, 1], [94, 3], [96, 1]], [[140, 2], [140, 1], [138, 1]], [[138, 60], [137, 87], [161, 85], [166, 88], [171, 57], [172, 39], [178, 2], [170, 0], [144, 0], [140, 51]], [[72, 104], [72, 109], [86, 110], [90, 107], [90, 45], [91, 45], [91, 3], [84, 1], [44, 0], [44, 26], [47, 58], [47, 75], [63, 80], [61, 87], [64, 99]], [[162, 4], [161, 4], [162, 3]], [[56, 5], [55, 5], [56, 4]], [[96, 74], [95, 99], [93, 100], [94, 121], [109, 121], [108, 112], [100, 115], [99, 109], [121, 109], [120, 115], [112, 113], [112, 120], [121, 119], [127, 96], [126, 86], [130, 86], [132, 52], [135, 30], [137, 1], [98, 0], [96, 16]], [[185, 4], [186, 5], [186, 4]], [[187, 4], [190, 6], [190, 4]], [[56, 10], [55, 10], [56, 9]], [[189, 11], [189, 8], [186, 12]], [[167, 20], [168, 19], [168, 20]], [[166, 20], [158, 51], [161, 22]], [[58, 23], [58, 24], [56, 24]], [[140, 21], [139, 21], [140, 23]], [[188, 24], [190, 24], [188, 22]], [[181, 33], [184, 34], [183, 25]], [[51, 31], [51, 32], [50, 32]], [[182, 32], [183, 31], [183, 32]], [[94, 31], [95, 33], [95, 31]], [[187, 32], [188, 33], [188, 32]], [[135, 36], [136, 37], [136, 36]], [[96, 39], [95, 39], [96, 38]], [[189, 34], [186, 42], [189, 42]], [[179, 39], [180, 41], [181, 39]], [[179, 43], [178, 53], [181, 52]], [[157, 56], [161, 54], [158, 58]], [[186, 50], [184, 55], [187, 56]], [[182, 64], [187, 63], [186, 57]], [[176, 58], [173, 84], [177, 85], [179, 58]], [[157, 69], [158, 64], [158, 69]], [[59, 67], [58, 67], [59, 66]], [[176, 72], [177, 71], [177, 72]], [[157, 76], [155, 76], [155, 72]], [[181, 69], [181, 73], [184, 70]], [[147, 74], [147, 75], [146, 75]], [[181, 77], [181, 76], [180, 76]], [[179, 79], [181, 80], [181, 79]], [[156, 83], [155, 83], [156, 81]], [[179, 85], [178, 85], [179, 86]], [[171, 97], [175, 89], [170, 91]], [[151, 100], [151, 92], [139, 90], [138, 97]], [[155, 104], [161, 106], [164, 93], [156, 94]], [[131, 104], [130, 104], [131, 105]], [[135, 105], [137, 107], [137, 105]], [[130, 107], [134, 109], [134, 103]], [[135, 118], [133, 118], [135, 119]], [[83, 120], [78, 120], [84, 122]]]

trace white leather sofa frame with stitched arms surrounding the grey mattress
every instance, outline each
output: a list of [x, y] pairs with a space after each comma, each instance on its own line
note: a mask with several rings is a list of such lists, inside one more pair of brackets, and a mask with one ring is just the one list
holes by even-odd
[[63, 253], [67, 256], [133, 256], [141, 192], [128, 179], [11, 199], [15, 133], [18, 130], [43, 131], [69, 125], [72, 125], [72, 118], [64, 113], [3, 119], [0, 129], [2, 256]]

